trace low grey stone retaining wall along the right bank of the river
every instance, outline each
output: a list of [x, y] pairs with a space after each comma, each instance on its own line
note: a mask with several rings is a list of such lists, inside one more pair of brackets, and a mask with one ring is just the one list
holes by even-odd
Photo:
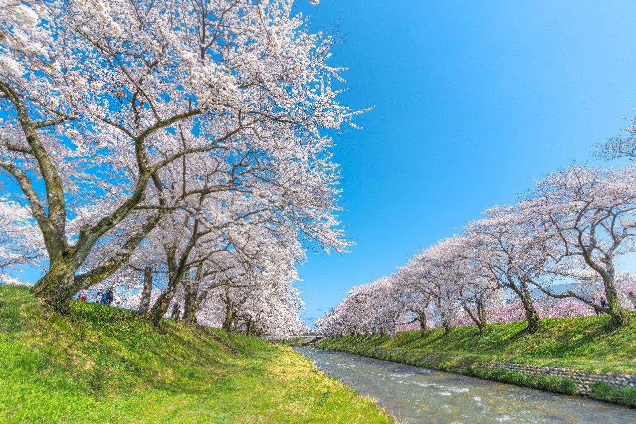
[[[371, 349], [375, 352], [383, 353], [402, 353], [396, 350], [385, 349]], [[457, 357], [448, 357], [441, 355], [425, 355], [422, 357], [427, 362], [430, 362], [434, 368], [437, 368], [441, 362], [447, 360], [457, 360]], [[604, 381], [605, 383], [613, 386], [616, 389], [621, 387], [635, 387], [636, 388], [636, 374], [620, 374], [620, 373], [589, 373], [587, 371], [581, 371], [579, 369], [563, 368], [563, 367], [544, 367], [537, 365], [524, 365], [513, 364], [510, 362], [497, 362], [487, 361], [480, 362], [480, 366], [484, 368], [505, 368], [508, 371], [517, 371], [518, 373], [528, 375], [543, 375], [553, 376], [560, 378], [571, 378], [576, 381], [579, 386], [578, 394], [581, 396], [590, 396], [591, 385], [595, 381]]]

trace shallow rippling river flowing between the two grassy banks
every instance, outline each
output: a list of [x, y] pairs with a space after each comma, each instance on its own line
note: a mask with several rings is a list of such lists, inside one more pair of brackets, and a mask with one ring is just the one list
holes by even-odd
[[636, 424], [636, 409], [317, 348], [296, 352], [408, 423]]

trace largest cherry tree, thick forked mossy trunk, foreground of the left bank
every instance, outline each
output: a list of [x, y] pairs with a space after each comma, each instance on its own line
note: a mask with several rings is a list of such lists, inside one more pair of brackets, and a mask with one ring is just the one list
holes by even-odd
[[[197, 195], [163, 196], [183, 160], [218, 169], [218, 191], [266, 182], [250, 193], [263, 202], [277, 195], [266, 186], [293, 181], [300, 192], [317, 178], [320, 193], [315, 184], [286, 207], [305, 202], [300, 231], [342, 246], [331, 209], [337, 172], [319, 130], [354, 113], [335, 100], [331, 39], [309, 34], [292, 3], [4, 4], [0, 168], [45, 243], [50, 264], [36, 296], [66, 311], [79, 289], [126, 263]], [[322, 207], [312, 209], [316, 199]], [[89, 259], [102, 243], [117, 248]]]

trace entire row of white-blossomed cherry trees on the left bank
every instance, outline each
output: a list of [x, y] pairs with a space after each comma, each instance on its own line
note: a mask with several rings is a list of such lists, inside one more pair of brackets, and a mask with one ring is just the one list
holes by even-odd
[[348, 245], [321, 130], [358, 112], [292, 6], [0, 0], [0, 270], [62, 312], [118, 285], [155, 324], [298, 327], [303, 243]]

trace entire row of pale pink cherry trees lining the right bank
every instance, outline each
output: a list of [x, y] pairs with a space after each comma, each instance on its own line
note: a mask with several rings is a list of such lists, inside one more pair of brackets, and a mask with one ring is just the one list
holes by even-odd
[[[636, 126], [607, 142], [602, 156], [635, 157], [633, 133]], [[424, 333], [432, 317], [446, 332], [469, 323], [481, 332], [488, 322], [522, 318], [536, 331], [542, 316], [595, 309], [624, 324], [636, 277], [617, 271], [616, 262], [636, 251], [635, 214], [636, 167], [552, 172], [516, 205], [486, 210], [393, 275], [355, 287], [317, 325], [326, 334], [384, 333], [414, 318], [411, 327]], [[532, 291], [561, 300], [537, 304]]]

